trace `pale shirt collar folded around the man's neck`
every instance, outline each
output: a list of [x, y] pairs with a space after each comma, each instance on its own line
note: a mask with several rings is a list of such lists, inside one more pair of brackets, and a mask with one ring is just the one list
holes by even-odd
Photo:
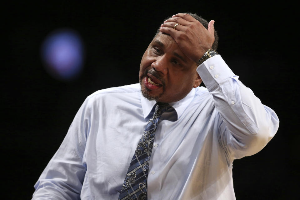
[[[177, 119], [180, 118], [184, 110], [187, 108], [187, 106], [192, 102], [195, 95], [195, 88], [192, 88], [191, 92], [187, 94], [187, 96], [177, 102], [169, 103], [176, 111], [177, 113]], [[156, 101], [149, 101], [146, 99], [142, 93], [141, 93], [141, 103], [143, 108], [143, 116], [144, 119], [148, 117], [150, 112], [152, 111], [154, 105], [156, 104]]]

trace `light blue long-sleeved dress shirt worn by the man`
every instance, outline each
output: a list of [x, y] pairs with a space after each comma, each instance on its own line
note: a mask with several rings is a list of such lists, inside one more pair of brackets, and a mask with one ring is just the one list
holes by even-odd
[[[260, 151], [278, 129], [274, 111], [262, 105], [220, 55], [197, 72], [207, 88], [193, 88], [170, 103], [173, 108], [158, 123], [149, 200], [235, 199], [233, 160]], [[35, 184], [32, 199], [118, 199], [155, 103], [141, 95], [139, 84], [90, 95]]]

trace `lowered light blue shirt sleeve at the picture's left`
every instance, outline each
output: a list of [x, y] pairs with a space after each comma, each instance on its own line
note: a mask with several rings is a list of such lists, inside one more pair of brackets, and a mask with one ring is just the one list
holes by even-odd
[[86, 173], [83, 153], [89, 127], [87, 100], [76, 114], [63, 143], [34, 185], [32, 199], [80, 199]]

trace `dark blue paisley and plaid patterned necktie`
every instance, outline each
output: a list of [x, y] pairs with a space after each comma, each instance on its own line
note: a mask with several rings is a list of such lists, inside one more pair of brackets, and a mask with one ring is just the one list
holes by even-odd
[[119, 200], [147, 200], [147, 177], [154, 136], [158, 120], [168, 108], [171, 108], [168, 103], [158, 102], [156, 104], [155, 112], [149, 120], [134, 152], [118, 198]]

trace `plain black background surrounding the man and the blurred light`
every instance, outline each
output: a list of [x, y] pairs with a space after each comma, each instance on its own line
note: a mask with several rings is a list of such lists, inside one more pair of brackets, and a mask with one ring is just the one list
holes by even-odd
[[[291, 3], [39, 2], [2, 7], [2, 195], [30, 199], [33, 185], [91, 93], [138, 82], [141, 57], [163, 19], [192, 12], [215, 20], [218, 53], [272, 108], [279, 130], [259, 153], [235, 160], [241, 199], [297, 199], [299, 190], [297, 11]], [[81, 75], [58, 81], [42, 67], [49, 32], [76, 30], [84, 41]]]

